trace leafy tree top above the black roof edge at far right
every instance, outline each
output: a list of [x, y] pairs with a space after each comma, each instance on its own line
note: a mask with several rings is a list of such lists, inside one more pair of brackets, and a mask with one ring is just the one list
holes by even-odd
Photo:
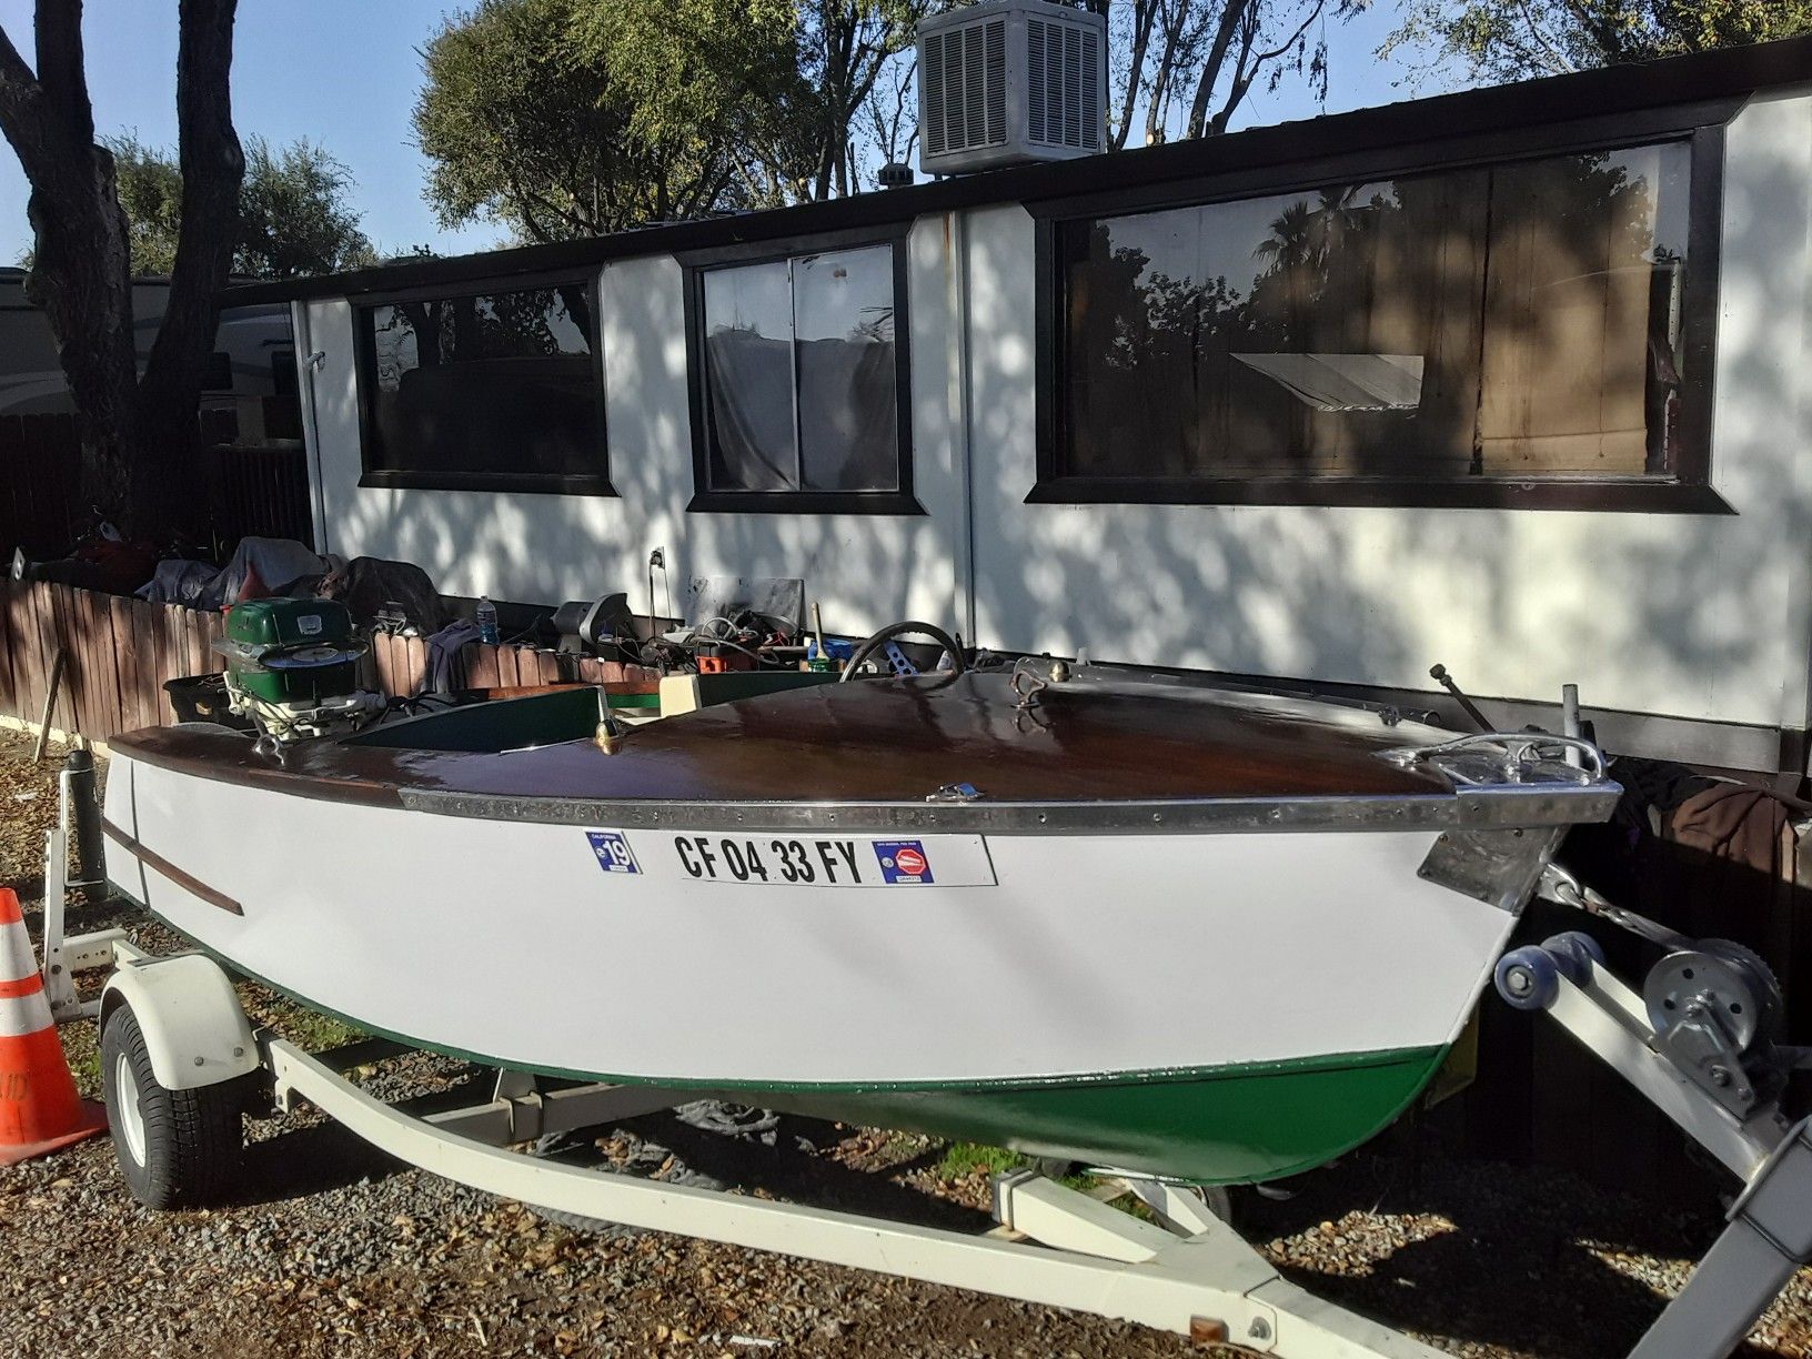
[[1482, 82], [1651, 62], [1812, 33], [1812, 0], [1412, 0], [1381, 49]]

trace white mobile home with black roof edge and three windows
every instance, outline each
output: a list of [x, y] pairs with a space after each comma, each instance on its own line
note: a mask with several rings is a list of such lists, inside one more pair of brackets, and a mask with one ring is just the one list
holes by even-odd
[[[317, 544], [1803, 774], [1812, 42], [234, 290]], [[652, 603], [652, 602], [651, 602]]]

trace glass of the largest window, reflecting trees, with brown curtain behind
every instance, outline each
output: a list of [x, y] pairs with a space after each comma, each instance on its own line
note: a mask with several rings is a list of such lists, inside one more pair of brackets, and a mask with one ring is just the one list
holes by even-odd
[[1678, 464], [1689, 147], [1056, 226], [1058, 475]]

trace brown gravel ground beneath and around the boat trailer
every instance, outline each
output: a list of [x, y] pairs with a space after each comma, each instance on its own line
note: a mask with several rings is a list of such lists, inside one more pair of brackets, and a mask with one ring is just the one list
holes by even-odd
[[[54, 768], [33, 768], [29, 745], [0, 732], [0, 881], [27, 897], [42, 892]], [[71, 928], [114, 920], [152, 948], [176, 942], [105, 904]], [[254, 988], [246, 1004], [304, 1042], [337, 1036]], [[92, 1093], [92, 1026], [63, 1038]], [[462, 1075], [413, 1055], [366, 1084], [391, 1098]], [[665, 1234], [573, 1230], [397, 1165], [319, 1116], [248, 1131], [246, 1190], [214, 1212], [138, 1207], [105, 1140], [0, 1171], [7, 1354], [1200, 1354], [1180, 1337], [953, 1288]], [[665, 1180], [986, 1227], [986, 1169], [966, 1169], [986, 1158], [928, 1138], [790, 1118], [727, 1138], [660, 1114], [580, 1152]], [[1285, 1201], [1239, 1200], [1247, 1236], [1312, 1292], [1459, 1355], [1622, 1354], [1720, 1229], [1709, 1180], [1705, 1210], [1682, 1212], [1560, 1172], [1441, 1156], [1412, 1134], [1292, 1189]], [[1812, 1357], [1812, 1270], [1745, 1354]]]

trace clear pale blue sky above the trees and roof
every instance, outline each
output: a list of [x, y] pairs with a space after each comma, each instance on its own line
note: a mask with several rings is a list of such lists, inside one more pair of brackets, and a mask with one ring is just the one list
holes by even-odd
[[[410, 111], [420, 85], [417, 49], [462, 5], [426, 0], [241, 0], [234, 43], [234, 125], [241, 138], [281, 145], [308, 138], [353, 174], [353, 205], [382, 250], [429, 245], [439, 254], [484, 250], [502, 228], [442, 230], [422, 201], [424, 165]], [[176, 0], [89, 0], [83, 38], [94, 121], [176, 145]], [[1348, 24], [1328, 24], [1326, 109], [1339, 112], [1406, 98], [1401, 65], [1373, 56], [1395, 20], [1395, 0]], [[31, 0], [0, 0], [0, 27], [31, 60]], [[1299, 82], [1276, 94], [1254, 89], [1239, 123], [1317, 112]], [[0, 143], [0, 265], [31, 245], [25, 178]]]

